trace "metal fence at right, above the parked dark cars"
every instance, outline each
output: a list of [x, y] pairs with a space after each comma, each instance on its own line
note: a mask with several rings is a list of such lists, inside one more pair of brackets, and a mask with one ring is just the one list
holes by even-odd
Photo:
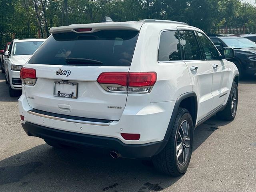
[[215, 34], [234, 34], [234, 35], [241, 35], [241, 34], [250, 34], [256, 32], [256, 26], [218, 26], [213, 27], [211, 33]]

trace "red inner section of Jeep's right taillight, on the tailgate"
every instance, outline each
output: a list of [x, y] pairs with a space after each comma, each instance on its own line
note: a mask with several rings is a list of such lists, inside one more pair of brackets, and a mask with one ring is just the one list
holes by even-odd
[[97, 82], [127, 86], [127, 75], [128, 72], [104, 72], [100, 74]]

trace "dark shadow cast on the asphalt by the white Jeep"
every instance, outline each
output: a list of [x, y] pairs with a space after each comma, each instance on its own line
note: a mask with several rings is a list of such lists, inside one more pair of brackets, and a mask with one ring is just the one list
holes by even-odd
[[[227, 123], [213, 117], [198, 126], [194, 150], [218, 126]], [[0, 161], [0, 191], [2, 188], [2, 191], [154, 192], [168, 188], [180, 178], [156, 172], [148, 160], [113, 159], [91, 150], [56, 149], [47, 144]]]

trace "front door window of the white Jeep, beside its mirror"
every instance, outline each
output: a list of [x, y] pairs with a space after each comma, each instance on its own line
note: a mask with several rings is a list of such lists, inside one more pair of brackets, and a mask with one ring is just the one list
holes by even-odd
[[219, 56], [218, 51], [210, 40], [202, 33], [197, 32], [199, 43], [203, 49], [203, 58], [206, 60], [216, 60]]

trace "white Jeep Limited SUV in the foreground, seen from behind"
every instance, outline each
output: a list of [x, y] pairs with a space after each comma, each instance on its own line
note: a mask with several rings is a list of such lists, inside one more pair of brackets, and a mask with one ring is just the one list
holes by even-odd
[[213, 116], [232, 120], [238, 70], [202, 30], [141, 20], [76, 24], [51, 36], [22, 68], [19, 111], [29, 136], [55, 147], [103, 148], [114, 158], [151, 157], [178, 176], [193, 131]]

